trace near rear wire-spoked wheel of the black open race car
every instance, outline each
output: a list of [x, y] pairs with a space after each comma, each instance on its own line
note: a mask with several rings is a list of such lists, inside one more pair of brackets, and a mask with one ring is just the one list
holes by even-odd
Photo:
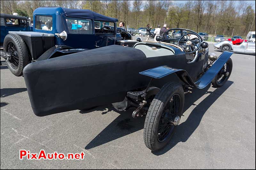
[[[164, 112], [163, 115], [163, 111], [166, 111], [166, 107], [169, 107], [168, 104], [170, 104], [170, 108], [173, 107], [172, 104], [174, 101], [176, 101], [176, 99], [180, 102], [177, 102], [179, 103], [179, 105], [176, 105], [178, 106], [178, 109], [175, 115], [173, 115], [173, 113], [169, 113], [169, 109], [168, 112]], [[172, 123], [170, 123], [169, 119], [169, 122], [167, 121], [167, 124], [169, 123], [169, 125], [163, 125], [164, 120], [169, 118], [166, 118], [165, 116], [172, 116], [172, 121], [174, 120], [173, 117], [181, 117], [181, 115], [183, 114], [183, 106], [184, 91], [182, 86], [176, 82], [165, 84], [156, 94], [148, 109], [144, 124], [144, 143], [150, 150], [157, 151], [168, 144], [177, 126], [174, 126]], [[159, 125], [160, 129], [167, 128], [167, 130], [161, 131], [159, 129]], [[161, 131], [161, 133], [158, 134], [158, 130], [159, 132]]]

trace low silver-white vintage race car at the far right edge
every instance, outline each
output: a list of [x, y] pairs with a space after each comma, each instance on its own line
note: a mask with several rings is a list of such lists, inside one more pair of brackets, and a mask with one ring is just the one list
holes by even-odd
[[224, 51], [232, 51], [235, 53], [255, 55], [255, 42], [242, 42], [240, 45], [233, 45], [232, 41], [222, 41], [214, 44], [215, 49]]

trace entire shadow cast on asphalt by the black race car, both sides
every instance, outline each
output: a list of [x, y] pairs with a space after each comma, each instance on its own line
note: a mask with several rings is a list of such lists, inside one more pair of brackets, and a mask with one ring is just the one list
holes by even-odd
[[[209, 107], [217, 100], [223, 92], [225, 92], [232, 81], [227, 81], [224, 86], [217, 88], [213, 92], [209, 92], [208, 89], [211, 85], [208, 85], [204, 89], [194, 89], [192, 94], [185, 95], [185, 104], [183, 113], [191, 106], [195, 105], [194, 102], [201, 98], [204, 94], [210, 93], [203, 101], [201, 101], [190, 113], [186, 122], [181, 123], [177, 130], [176, 135], [172, 137], [170, 143], [159, 152], [152, 152], [155, 155], [162, 155], [165, 152], [169, 151], [179, 142], [186, 142], [188, 138], [193, 134], [195, 129], [199, 126], [204, 113]], [[102, 111], [102, 114], [106, 114], [108, 111], [114, 110], [112, 106], [100, 106], [95, 107], [86, 111], [81, 110], [80, 113], [90, 113], [93, 111]], [[85, 149], [91, 149], [102, 144], [106, 144], [110, 141], [124, 137], [130, 133], [136, 132], [144, 128], [145, 116], [137, 119], [132, 118], [132, 112], [134, 108], [130, 108], [124, 112], [118, 112], [120, 115], [111, 122], [105, 129], [103, 129], [89, 144], [85, 146]], [[182, 118], [181, 118], [182, 119]], [[141, 134], [143, 135], [143, 134]]]

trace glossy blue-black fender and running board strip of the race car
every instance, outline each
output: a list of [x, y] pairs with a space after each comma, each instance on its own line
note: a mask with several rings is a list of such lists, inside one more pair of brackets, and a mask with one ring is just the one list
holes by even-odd
[[233, 52], [223, 52], [218, 57], [218, 59], [213, 63], [210, 69], [208, 69], [196, 83], [193, 82], [193, 80], [190, 78], [186, 70], [175, 69], [168, 66], [160, 66], [153, 69], [145, 70], [140, 72], [140, 74], [152, 78], [163, 78], [167, 75], [175, 73], [180, 78], [180, 80], [182, 80], [186, 85], [194, 86], [198, 89], [203, 89], [209, 83], [211, 83], [212, 79], [218, 74], [218, 72], [221, 70], [223, 65], [228, 61], [229, 57], [232, 54]]

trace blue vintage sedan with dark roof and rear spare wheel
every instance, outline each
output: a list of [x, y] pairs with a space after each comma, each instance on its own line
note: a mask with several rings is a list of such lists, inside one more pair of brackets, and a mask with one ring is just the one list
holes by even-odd
[[33, 21], [34, 32], [9, 31], [4, 38], [1, 54], [15, 76], [21, 76], [28, 63], [44, 57], [105, 47], [118, 43], [118, 40], [132, 40], [131, 33], [117, 29], [118, 19], [90, 10], [40, 7], [34, 11]]

